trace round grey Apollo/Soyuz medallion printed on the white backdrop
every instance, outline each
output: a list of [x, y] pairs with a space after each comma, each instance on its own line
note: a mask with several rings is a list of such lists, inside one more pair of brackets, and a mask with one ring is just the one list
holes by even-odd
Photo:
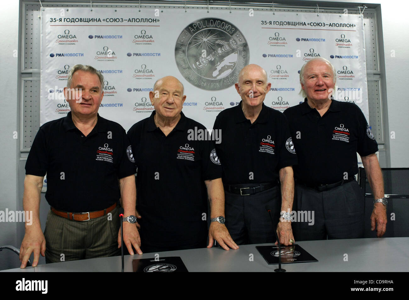
[[230, 22], [202, 18], [182, 30], [175, 59], [182, 76], [207, 91], [227, 89], [249, 64], [249, 46], [243, 33]]

